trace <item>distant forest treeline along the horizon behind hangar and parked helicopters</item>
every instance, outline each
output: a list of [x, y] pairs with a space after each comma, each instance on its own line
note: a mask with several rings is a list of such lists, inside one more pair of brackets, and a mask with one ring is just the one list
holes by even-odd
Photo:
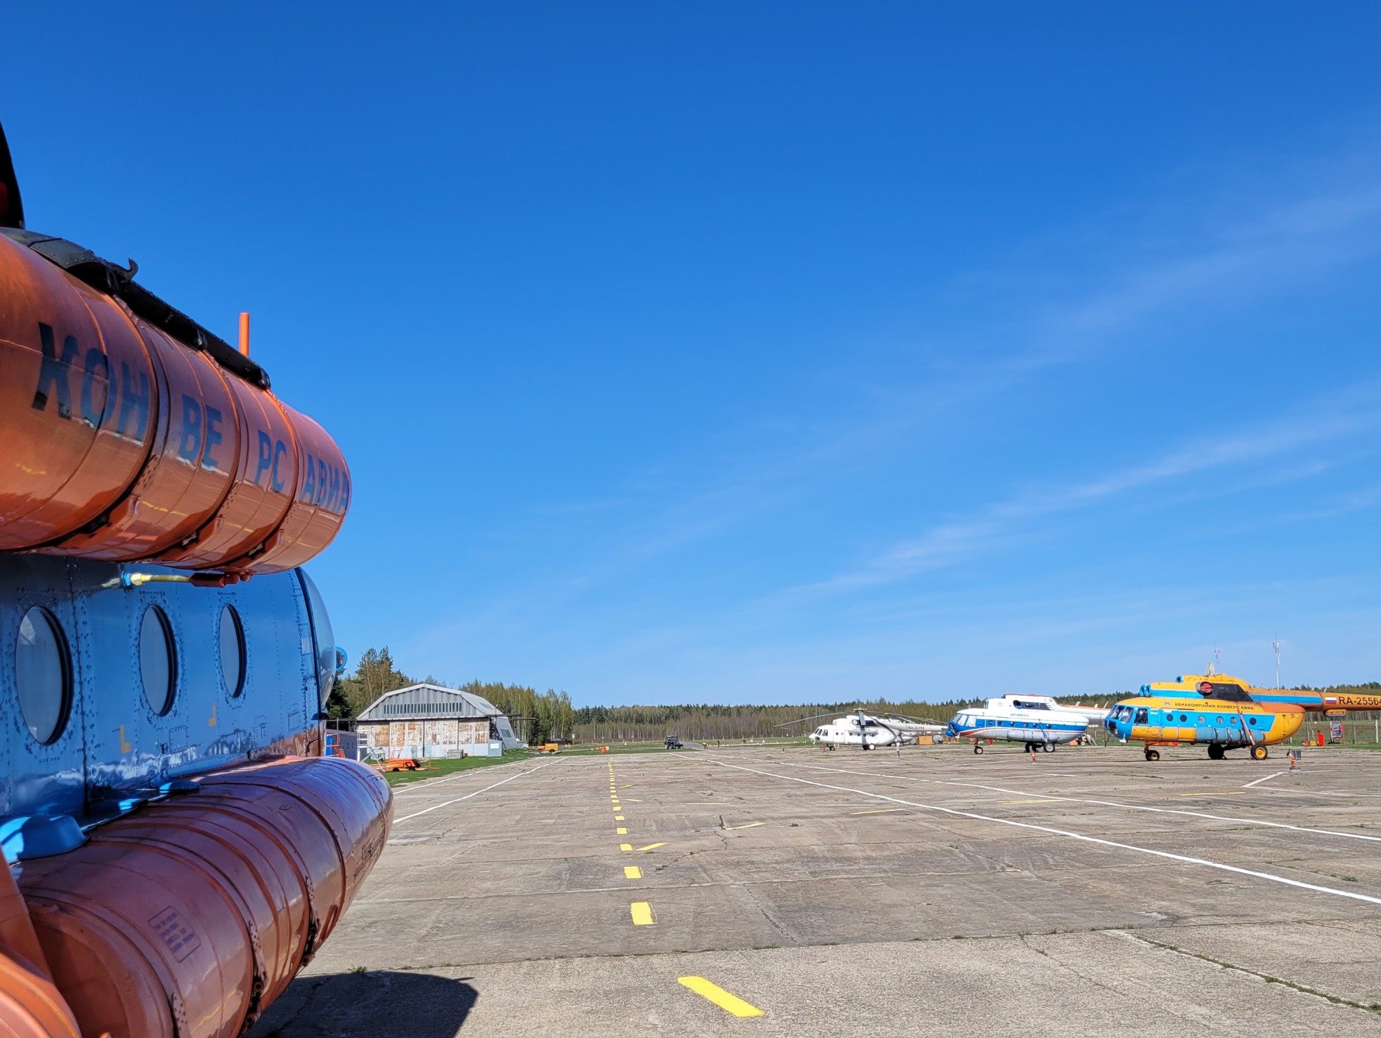
[[[327, 704], [331, 718], [354, 718], [385, 692], [416, 685], [420, 680], [461, 689], [485, 697], [514, 723], [519, 738], [528, 743], [545, 743], [552, 738], [573, 738], [577, 743], [637, 743], [660, 740], [666, 736], [679, 736], [686, 740], [743, 740], [771, 736], [804, 736], [816, 726], [842, 716], [849, 711], [863, 709], [867, 714], [898, 714], [916, 721], [945, 723], [956, 712], [976, 707], [987, 697], [967, 700], [946, 700], [943, 703], [816, 703], [804, 705], [743, 705], [726, 707], [702, 703], [699, 705], [671, 707], [580, 707], [570, 705], [565, 692], [537, 692], [526, 685], [504, 685], [501, 682], [470, 680], [452, 685], [428, 675], [409, 678], [399, 671], [388, 652], [370, 649], [360, 658], [351, 675], [337, 678], [336, 689]], [[1298, 690], [1312, 686], [1300, 685]], [[1381, 690], [1381, 682], [1363, 685], [1333, 685], [1324, 692], [1370, 692]], [[1081, 703], [1084, 705], [1108, 707], [1120, 698], [1132, 696], [1131, 690], [1112, 692], [1103, 696], [1056, 696], [1061, 703]]]

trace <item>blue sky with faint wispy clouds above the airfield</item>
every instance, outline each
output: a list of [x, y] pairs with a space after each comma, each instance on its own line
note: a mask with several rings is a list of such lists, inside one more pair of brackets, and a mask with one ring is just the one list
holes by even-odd
[[[311, 11], [311, 12], [308, 12]], [[354, 471], [352, 657], [577, 704], [1381, 678], [1381, 6], [23, 4], [29, 224]]]

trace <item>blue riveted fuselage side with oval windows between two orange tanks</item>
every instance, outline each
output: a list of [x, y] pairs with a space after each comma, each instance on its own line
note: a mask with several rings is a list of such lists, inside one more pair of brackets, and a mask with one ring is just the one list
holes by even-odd
[[224, 588], [130, 574], [177, 576], [0, 555], [0, 825], [86, 823], [182, 774], [320, 752], [336, 649], [301, 569]]

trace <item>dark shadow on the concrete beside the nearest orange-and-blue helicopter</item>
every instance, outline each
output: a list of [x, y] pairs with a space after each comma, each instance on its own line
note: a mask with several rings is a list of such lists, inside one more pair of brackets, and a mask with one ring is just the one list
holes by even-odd
[[431, 973], [298, 977], [244, 1038], [456, 1038], [479, 992]]

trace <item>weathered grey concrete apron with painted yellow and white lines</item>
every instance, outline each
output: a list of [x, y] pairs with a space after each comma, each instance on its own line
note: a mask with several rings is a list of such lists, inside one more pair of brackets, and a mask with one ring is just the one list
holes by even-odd
[[609, 761], [409, 791], [251, 1038], [1381, 1034], [1381, 755], [617, 756], [619, 823]]

